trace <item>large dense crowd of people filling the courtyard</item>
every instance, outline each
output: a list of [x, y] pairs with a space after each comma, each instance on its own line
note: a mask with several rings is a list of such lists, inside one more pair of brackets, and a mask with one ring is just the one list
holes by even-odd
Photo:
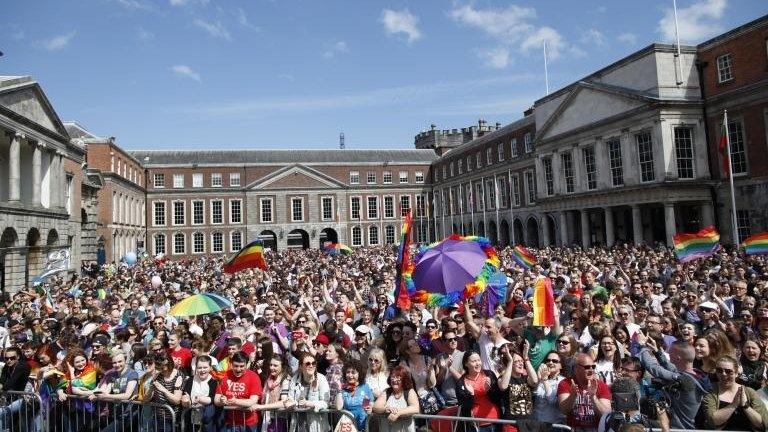
[[[768, 429], [767, 257], [531, 251], [531, 269], [498, 251], [509, 284], [490, 316], [473, 300], [397, 308], [393, 247], [267, 252], [268, 270], [236, 274], [218, 257], [88, 266], [4, 294], [0, 391], [43, 395], [66, 432], [134, 430], [136, 410], [157, 405], [166, 414], [140, 430], [184, 416], [206, 431], [450, 430], [415, 414], [473, 417], [461, 428], [480, 432]], [[554, 326], [532, 326], [539, 277], [552, 280]], [[234, 306], [169, 313], [200, 292]], [[0, 408], [0, 430], [24, 401]], [[338, 429], [334, 410], [353, 421]]]

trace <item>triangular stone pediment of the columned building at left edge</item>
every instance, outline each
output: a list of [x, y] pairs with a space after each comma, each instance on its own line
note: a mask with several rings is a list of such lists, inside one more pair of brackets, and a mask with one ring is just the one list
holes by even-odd
[[0, 93], [0, 106], [60, 135], [68, 136], [64, 124], [53, 110], [40, 86], [28, 84]]

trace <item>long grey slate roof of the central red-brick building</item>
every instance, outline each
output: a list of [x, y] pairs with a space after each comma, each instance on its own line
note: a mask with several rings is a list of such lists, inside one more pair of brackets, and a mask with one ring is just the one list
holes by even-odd
[[[130, 155], [144, 166], [243, 165], [301, 163], [424, 163], [437, 159], [432, 150], [136, 150]], [[149, 157], [149, 160], [145, 160]]]

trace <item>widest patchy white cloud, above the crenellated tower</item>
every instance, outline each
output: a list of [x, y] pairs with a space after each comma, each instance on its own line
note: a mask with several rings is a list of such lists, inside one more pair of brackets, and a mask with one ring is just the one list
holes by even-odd
[[[504, 9], [475, 9], [472, 5], [457, 5], [448, 15], [460, 24], [482, 31], [499, 44], [497, 48], [478, 51], [478, 56], [491, 67], [506, 67], [515, 51], [523, 54], [541, 52], [544, 42], [549, 58], [555, 59], [570, 51], [570, 44], [557, 30], [533, 24], [537, 15], [531, 7], [510, 5]], [[506, 48], [506, 58], [502, 48]]]

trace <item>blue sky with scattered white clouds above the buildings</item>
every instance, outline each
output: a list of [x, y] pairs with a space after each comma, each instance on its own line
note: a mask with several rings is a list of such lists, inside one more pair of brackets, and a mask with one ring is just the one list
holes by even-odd
[[[672, 0], [3, 0], [0, 75], [126, 149], [412, 148], [673, 38]], [[697, 43], [765, 0], [678, 0]]]

